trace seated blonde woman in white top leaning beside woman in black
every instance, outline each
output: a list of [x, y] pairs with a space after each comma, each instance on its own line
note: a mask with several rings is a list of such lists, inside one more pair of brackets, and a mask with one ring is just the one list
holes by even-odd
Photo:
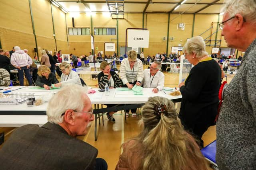
[[72, 67], [69, 63], [62, 62], [60, 64], [60, 70], [62, 71], [61, 79], [59, 83], [54, 84], [55, 87], [61, 87], [67, 84], [78, 84], [82, 86], [78, 74], [72, 70]]

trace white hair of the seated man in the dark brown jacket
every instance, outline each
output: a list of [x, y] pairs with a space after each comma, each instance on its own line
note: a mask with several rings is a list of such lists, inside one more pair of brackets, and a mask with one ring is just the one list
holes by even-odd
[[83, 96], [86, 92], [86, 87], [77, 84], [62, 87], [48, 102], [46, 109], [48, 121], [56, 124], [62, 123], [62, 113], [65, 113], [67, 109], [83, 110], [85, 102]]

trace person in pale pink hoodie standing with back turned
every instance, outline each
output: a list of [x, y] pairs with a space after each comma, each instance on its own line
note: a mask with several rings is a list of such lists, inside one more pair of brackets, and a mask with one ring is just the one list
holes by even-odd
[[32, 64], [32, 59], [20, 47], [14, 47], [15, 52], [11, 56], [11, 64], [18, 69], [20, 86], [24, 86], [24, 72], [28, 79], [28, 83], [32, 86], [29, 67]]

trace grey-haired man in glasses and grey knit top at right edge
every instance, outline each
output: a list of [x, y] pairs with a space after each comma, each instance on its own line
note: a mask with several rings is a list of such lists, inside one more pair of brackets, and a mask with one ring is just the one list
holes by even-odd
[[256, 0], [227, 0], [219, 24], [228, 47], [245, 51], [224, 89], [216, 125], [220, 170], [256, 167]]

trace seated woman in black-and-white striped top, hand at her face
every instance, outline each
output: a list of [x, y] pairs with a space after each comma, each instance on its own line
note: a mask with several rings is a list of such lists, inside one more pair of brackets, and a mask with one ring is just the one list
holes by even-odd
[[[100, 63], [100, 69], [102, 72], [98, 74], [98, 84], [100, 89], [105, 89], [105, 85], [108, 84], [109, 88], [118, 88], [122, 86], [122, 81], [118, 74], [114, 71], [110, 71], [110, 64], [106, 61]], [[107, 104], [107, 107], [113, 107], [114, 104]], [[116, 111], [110, 111], [107, 113], [107, 117], [110, 121], [116, 122], [112, 116]]]

